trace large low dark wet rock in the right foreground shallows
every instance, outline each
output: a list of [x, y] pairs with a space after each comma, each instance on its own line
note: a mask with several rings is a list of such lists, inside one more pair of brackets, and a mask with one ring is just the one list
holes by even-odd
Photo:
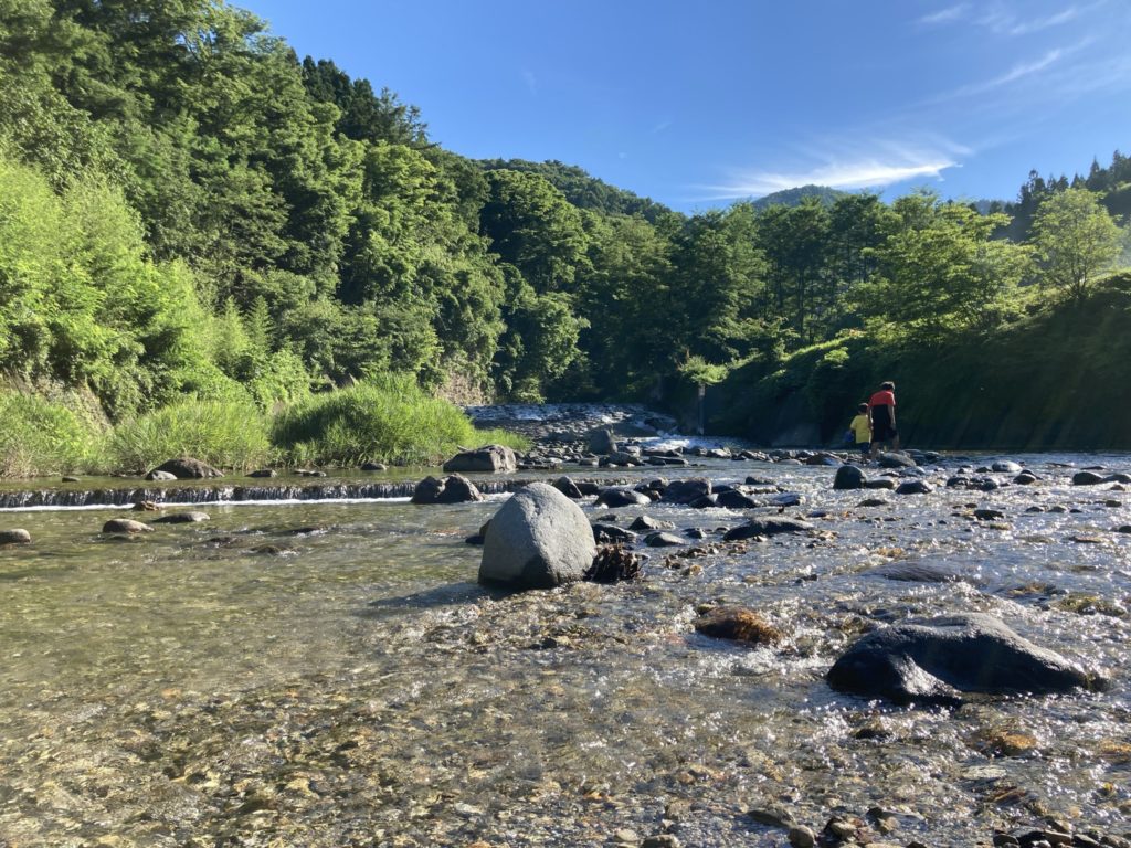
[[873, 631], [836, 661], [828, 681], [841, 692], [900, 704], [957, 703], [967, 692], [1051, 694], [1105, 684], [982, 613]]

